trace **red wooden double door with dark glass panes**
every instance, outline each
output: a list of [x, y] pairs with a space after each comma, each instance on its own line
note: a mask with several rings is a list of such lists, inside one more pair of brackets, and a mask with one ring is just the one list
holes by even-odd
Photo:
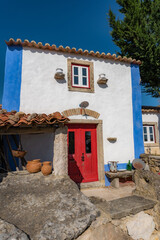
[[78, 183], [98, 180], [96, 125], [68, 125], [68, 174]]

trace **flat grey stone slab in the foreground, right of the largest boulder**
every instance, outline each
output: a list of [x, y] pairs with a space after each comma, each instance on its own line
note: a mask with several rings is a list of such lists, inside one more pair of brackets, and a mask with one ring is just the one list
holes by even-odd
[[[94, 203], [94, 202], [93, 202]], [[129, 215], [134, 215], [144, 210], [154, 207], [157, 202], [140, 196], [129, 196], [119, 198], [112, 201], [104, 201], [101, 199], [94, 204], [112, 219], [120, 219]]]

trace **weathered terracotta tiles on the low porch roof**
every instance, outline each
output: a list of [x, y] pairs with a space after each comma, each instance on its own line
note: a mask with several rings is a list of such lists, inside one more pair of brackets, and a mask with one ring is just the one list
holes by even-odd
[[17, 126], [35, 126], [35, 125], [54, 125], [69, 121], [68, 118], [55, 112], [46, 114], [25, 114], [23, 112], [0, 110], [0, 127], [17, 127]]

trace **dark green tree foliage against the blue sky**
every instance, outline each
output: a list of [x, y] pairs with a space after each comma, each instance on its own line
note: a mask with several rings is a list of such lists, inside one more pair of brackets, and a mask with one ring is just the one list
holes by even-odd
[[145, 91], [160, 97], [160, 0], [116, 0], [124, 18], [109, 10], [111, 36], [122, 56], [140, 59]]

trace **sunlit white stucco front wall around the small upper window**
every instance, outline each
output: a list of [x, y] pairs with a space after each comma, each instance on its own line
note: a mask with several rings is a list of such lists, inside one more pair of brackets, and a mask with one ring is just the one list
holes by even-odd
[[[68, 91], [67, 58], [92, 61], [94, 64], [95, 93]], [[54, 79], [56, 68], [62, 68], [66, 82]], [[108, 86], [97, 84], [99, 74], [105, 73]], [[134, 159], [132, 88], [130, 64], [105, 59], [84, 57], [53, 51], [24, 48], [20, 111], [26, 113], [62, 112], [78, 108], [82, 101], [89, 109], [100, 113], [103, 120], [104, 161], [121, 163]], [[74, 118], [74, 117], [72, 117]], [[75, 116], [77, 119], [77, 116]], [[84, 118], [79, 116], [79, 118]], [[107, 138], [116, 137], [110, 143]]]

